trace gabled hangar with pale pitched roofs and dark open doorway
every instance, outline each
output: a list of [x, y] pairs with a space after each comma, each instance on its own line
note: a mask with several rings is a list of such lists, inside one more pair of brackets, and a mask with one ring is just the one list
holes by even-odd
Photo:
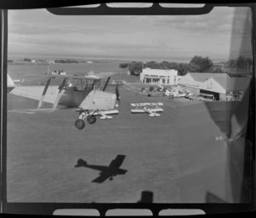
[[249, 77], [207, 72], [189, 72], [178, 82], [192, 94], [212, 95], [215, 100], [241, 100], [249, 83]]

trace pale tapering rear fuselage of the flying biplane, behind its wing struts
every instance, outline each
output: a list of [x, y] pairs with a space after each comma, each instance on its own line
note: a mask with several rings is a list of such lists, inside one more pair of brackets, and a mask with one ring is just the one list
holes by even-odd
[[[58, 95], [58, 86], [49, 86], [49, 89], [44, 97], [44, 102], [55, 103], [56, 96]], [[40, 100], [44, 91], [44, 86], [16, 86], [9, 94], [26, 97], [33, 100]]]

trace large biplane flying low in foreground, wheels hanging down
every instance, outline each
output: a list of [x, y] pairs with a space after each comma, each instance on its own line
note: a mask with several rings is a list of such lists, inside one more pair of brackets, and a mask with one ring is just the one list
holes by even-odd
[[[77, 107], [75, 111], [79, 112], [79, 119], [76, 120], [77, 129], [84, 129], [84, 119], [90, 124], [96, 123], [96, 115], [100, 115], [101, 119], [113, 118], [108, 114], [119, 113], [115, 109], [117, 101], [119, 101], [118, 84], [115, 87], [115, 94], [105, 92], [110, 77], [117, 74], [116, 72], [100, 72], [85, 76], [72, 75], [40, 75], [30, 77], [48, 77], [45, 86], [16, 86], [9, 93], [19, 95], [26, 98], [39, 100], [38, 109], [12, 110], [9, 112], [53, 112], [57, 105], [66, 107]], [[62, 79], [60, 86], [49, 86], [53, 78]], [[102, 90], [101, 79], [107, 78]], [[71, 80], [80, 81], [79, 85], [73, 85]], [[44, 102], [53, 104], [53, 108], [40, 109]]]

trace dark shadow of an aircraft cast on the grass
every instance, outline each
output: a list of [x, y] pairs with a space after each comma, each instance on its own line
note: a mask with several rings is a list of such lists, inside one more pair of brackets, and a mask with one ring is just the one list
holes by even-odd
[[113, 176], [124, 175], [127, 172], [126, 169], [119, 169], [120, 165], [123, 164], [124, 159], [125, 155], [117, 155], [116, 158], [113, 159], [108, 166], [91, 165], [87, 164], [87, 162], [83, 159], [79, 159], [75, 167], [87, 167], [90, 169], [102, 171], [100, 173], [100, 176], [98, 176], [95, 180], [91, 181], [96, 183], [102, 183], [103, 181], [108, 180], [108, 178], [110, 181], [113, 181]]

